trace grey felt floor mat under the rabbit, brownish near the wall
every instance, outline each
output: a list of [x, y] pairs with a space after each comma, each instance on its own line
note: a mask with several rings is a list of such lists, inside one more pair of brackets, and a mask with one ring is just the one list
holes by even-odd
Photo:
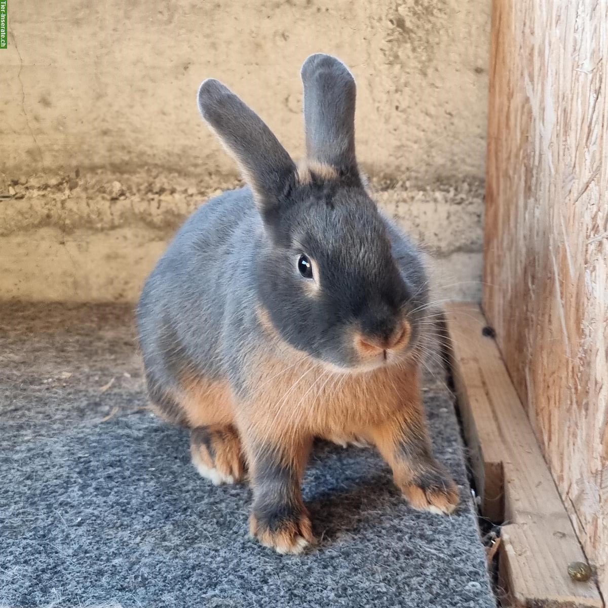
[[143, 409], [130, 309], [2, 305], [0, 606], [494, 607], [452, 398], [424, 396], [460, 511], [413, 511], [372, 449], [319, 443], [319, 545], [278, 556], [247, 537], [247, 486], [199, 477]]

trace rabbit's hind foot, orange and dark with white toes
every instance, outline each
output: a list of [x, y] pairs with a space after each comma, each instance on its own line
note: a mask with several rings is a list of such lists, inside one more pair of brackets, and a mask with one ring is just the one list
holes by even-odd
[[192, 429], [190, 455], [196, 470], [213, 485], [237, 483], [244, 477], [241, 440], [231, 424], [212, 424]]

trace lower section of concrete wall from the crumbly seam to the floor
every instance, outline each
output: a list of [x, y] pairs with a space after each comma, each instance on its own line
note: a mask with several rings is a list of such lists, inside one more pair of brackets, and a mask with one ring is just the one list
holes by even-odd
[[[119, 181], [120, 179], [120, 181]], [[4, 299], [134, 301], [174, 231], [234, 176], [165, 171], [78, 177], [44, 174], [4, 185], [0, 293]], [[379, 206], [430, 254], [438, 297], [477, 298], [483, 184], [371, 181]]]

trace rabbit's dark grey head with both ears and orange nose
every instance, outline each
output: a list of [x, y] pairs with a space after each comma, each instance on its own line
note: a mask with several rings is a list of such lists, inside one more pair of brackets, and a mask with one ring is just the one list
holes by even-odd
[[306, 162], [296, 167], [268, 126], [216, 80], [199, 109], [237, 159], [260, 213], [263, 246], [243, 260], [258, 305], [292, 347], [334, 370], [407, 361], [426, 325], [426, 277], [415, 249], [365, 190], [354, 153], [355, 83], [328, 55], [302, 66]]

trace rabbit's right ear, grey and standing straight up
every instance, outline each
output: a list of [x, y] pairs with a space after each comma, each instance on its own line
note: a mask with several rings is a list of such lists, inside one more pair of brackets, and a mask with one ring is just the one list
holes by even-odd
[[354, 155], [353, 75], [342, 61], [322, 54], [311, 55], [300, 74], [308, 161], [329, 165], [340, 178], [359, 185]]

